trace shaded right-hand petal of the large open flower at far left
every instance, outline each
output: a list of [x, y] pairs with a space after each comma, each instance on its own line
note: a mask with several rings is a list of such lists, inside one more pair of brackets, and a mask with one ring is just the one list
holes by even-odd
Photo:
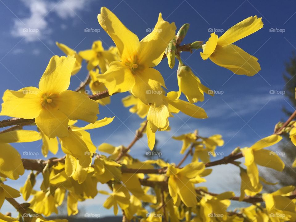
[[99, 114], [96, 101], [89, 99], [80, 92], [71, 90], [65, 90], [60, 94], [58, 109], [71, 120], [81, 119], [91, 123], [97, 120], [97, 114]]

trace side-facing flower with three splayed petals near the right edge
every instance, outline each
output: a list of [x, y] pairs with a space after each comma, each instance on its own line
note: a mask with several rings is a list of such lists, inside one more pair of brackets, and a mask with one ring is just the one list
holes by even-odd
[[276, 153], [263, 149], [278, 143], [281, 139], [281, 136], [271, 135], [259, 140], [251, 147], [241, 149], [245, 157], [247, 174], [253, 187], [256, 188], [259, 184], [259, 172], [256, 164], [273, 168], [277, 171], [282, 171], [284, 169], [285, 164]]

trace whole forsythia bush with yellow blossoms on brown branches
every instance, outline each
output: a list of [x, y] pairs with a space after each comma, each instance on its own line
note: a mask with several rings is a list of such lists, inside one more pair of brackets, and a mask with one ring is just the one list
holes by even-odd
[[[98, 22], [116, 47], [104, 49], [101, 41], [95, 41], [91, 49], [76, 52], [56, 43], [67, 57], [55, 55], [50, 59], [38, 88], [4, 92], [0, 115], [14, 118], [0, 121], [1, 127], [11, 126], [0, 133], [0, 207], [4, 201], [9, 202], [19, 217], [0, 213], [0, 221], [47, 221], [43, 216], [58, 214], [57, 207], [64, 199], [68, 215], [75, 215], [78, 202], [92, 199], [97, 193], [106, 195], [104, 207], [113, 208], [115, 215], [120, 208], [124, 221], [296, 221], [295, 187], [261, 193], [262, 183], [272, 183], [259, 175], [257, 167], [284, 169], [284, 162], [268, 147], [281, 141], [281, 134], [289, 132], [296, 145], [296, 123], [292, 121], [296, 113], [285, 123], [278, 123], [272, 135], [212, 162], [209, 156], [215, 156], [216, 147], [224, 144], [221, 135], [204, 138], [191, 132], [173, 137], [183, 141], [180, 154], [184, 156], [178, 164], [161, 159], [141, 162], [128, 154], [143, 134], [153, 150], [156, 132], [170, 129], [168, 118], [174, 113], [208, 118], [206, 111], [195, 103], [204, 101], [204, 93], [211, 96], [214, 93], [182, 62], [182, 51], [201, 50], [203, 60], [210, 59], [238, 75], [253, 76], [261, 70], [256, 57], [233, 44], [261, 29], [261, 18], [249, 17], [220, 37], [212, 33], [205, 43], [191, 44], [181, 44], [189, 24], [184, 24], [176, 34], [175, 23], [164, 21], [162, 14], [154, 30], [141, 41], [105, 7], [101, 8]], [[177, 92], [168, 90], [162, 74], [155, 68], [166, 57], [170, 68], [175, 66], [175, 60], [179, 62]], [[80, 71], [83, 60], [89, 74], [76, 91], [68, 90], [71, 76]], [[85, 90], [88, 85], [93, 95]], [[128, 147], [103, 143], [97, 148], [89, 131], [112, 124], [114, 119], [97, 120], [99, 104], [109, 104], [109, 96], [119, 92], [130, 92], [123, 98], [123, 105], [146, 120]], [[180, 99], [181, 93], [187, 101]], [[77, 127], [77, 120], [89, 124]], [[36, 131], [23, 130], [25, 125], [36, 125]], [[44, 157], [49, 151], [56, 154], [59, 144], [65, 156], [43, 161], [22, 159], [11, 145], [37, 140], [43, 142]], [[98, 155], [97, 150], [105, 155]], [[189, 156], [191, 163], [182, 166]], [[239, 158], [245, 162], [236, 161]], [[215, 194], [202, 187], [204, 177], [212, 172], [211, 167], [220, 164], [234, 164], [240, 169], [239, 196], [232, 191]], [[7, 180], [17, 180], [25, 170], [31, 173], [20, 190], [5, 184]], [[35, 186], [38, 174], [43, 177], [40, 187]], [[110, 189], [97, 191], [97, 183], [107, 184]], [[20, 195], [28, 203], [19, 204], [14, 199]], [[227, 209], [231, 200], [251, 204], [230, 212]]]

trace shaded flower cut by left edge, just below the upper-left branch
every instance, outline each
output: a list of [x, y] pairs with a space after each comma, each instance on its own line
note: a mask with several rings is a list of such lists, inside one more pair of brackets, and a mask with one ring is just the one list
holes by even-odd
[[25, 172], [21, 155], [10, 146], [12, 142], [33, 142], [41, 139], [38, 132], [32, 130], [15, 130], [0, 134], [0, 176], [18, 179]]

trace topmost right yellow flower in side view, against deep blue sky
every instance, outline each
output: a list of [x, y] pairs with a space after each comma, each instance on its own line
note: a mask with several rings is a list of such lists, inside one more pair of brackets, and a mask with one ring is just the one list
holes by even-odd
[[219, 38], [214, 32], [203, 45], [203, 52], [200, 52], [200, 55], [203, 60], [210, 58], [213, 63], [235, 74], [253, 76], [261, 70], [258, 59], [232, 43], [253, 34], [262, 27], [261, 18], [258, 19], [255, 15], [232, 26]]

